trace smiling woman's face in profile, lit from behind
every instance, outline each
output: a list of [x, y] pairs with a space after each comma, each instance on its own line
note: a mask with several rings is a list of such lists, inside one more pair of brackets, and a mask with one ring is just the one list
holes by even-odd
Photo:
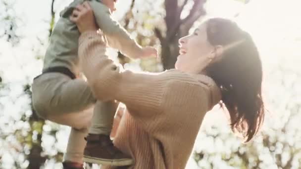
[[[214, 50], [214, 47], [207, 41], [206, 24], [201, 24], [191, 35], [179, 40], [180, 55], [177, 58], [175, 68], [188, 73], [195, 72], [200, 57], [206, 57]], [[200, 65], [201, 66], [201, 65]]]

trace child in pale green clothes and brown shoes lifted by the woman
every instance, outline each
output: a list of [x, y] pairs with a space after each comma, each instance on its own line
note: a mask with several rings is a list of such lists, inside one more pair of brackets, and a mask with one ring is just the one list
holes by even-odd
[[[77, 78], [81, 72], [77, 53], [80, 33], [69, 17], [73, 9], [84, 1], [74, 0], [60, 13], [46, 51], [43, 73], [34, 79], [32, 85], [33, 106], [41, 117], [72, 127], [64, 157], [65, 168], [83, 163], [86, 144], [83, 138], [91, 119], [84, 161], [113, 166], [131, 165], [133, 160], [114, 147], [109, 138], [116, 111], [113, 101], [97, 101], [88, 84]], [[115, 1], [88, 0], [108, 45], [134, 59], [157, 55], [156, 49], [139, 46], [111, 19]], [[92, 113], [87, 109], [94, 105], [92, 118]]]

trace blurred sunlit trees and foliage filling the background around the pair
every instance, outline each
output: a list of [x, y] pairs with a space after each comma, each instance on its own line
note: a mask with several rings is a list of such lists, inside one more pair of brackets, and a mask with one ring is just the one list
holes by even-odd
[[[249, 3], [245, 0], [244, 3], [249, 5], [252, 1]], [[27, 18], [24, 19], [20, 16], [22, 13], [14, 10], [17, 2], [19, 1], [0, 0], [0, 45], [8, 48], [8, 51], [0, 50], [0, 168], [60, 168], [59, 163], [63, 158], [69, 129], [36, 116], [30, 99], [30, 84], [40, 71], [38, 69], [42, 65], [43, 58], [41, 55], [44, 54], [57, 20], [59, 11], [57, 6], [63, 2], [47, 1], [49, 10], [43, 11], [46, 18], [44, 19], [47, 20], [46, 26], [41, 26], [42, 34], [34, 34], [36, 37], [30, 38], [29, 42], [33, 47], [26, 50], [20, 46], [28, 42], [23, 42], [28, 37], [20, 33], [20, 28], [24, 28]], [[187, 35], [193, 24], [205, 14], [204, 2], [205, 0], [130, 0], [129, 10], [120, 20], [121, 24], [140, 44], [154, 45], [160, 48], [161, 53], [162, 65], [153, 59], [142, 60], [139, 63], [143, 70], [158, 72], [162, 70], [160, 66], [163, 66], [163, 69], [173, 68], [178, 55], [178, 39]], [[264, 84], [267, 87], [264, 94], [270, 112], [261, 133], [251, 143], [241, 144], [241, 140], [230, 132], [225, 121], [213, 125], [204, 124], [193, 154], [198, 168], [300, 168], [301, 131], [298, 123], [301, 119], [299, 89], [301, 81], [298, 77], [301, 72], [294, 60], [297, 60], [297, 56], [300, 58], [297, 51], [301, 44], [300, 34], [296, 35], [292, 33], [291, 40], [282, 40], [283, 43], [280, 41], [278, 46], [275, 44], [265, 47], [266, 51], [261, 52], [267, 72]], [[293, 42], [299, 43], [292, 45]], [[259, 40], [258, 44], [262, 43], [268, 42]], [[286, 43], [289, 45], [284, 46]], [[27, 62], [20, 60], [20, 57], [14, 59], [16, 53], [23, 52], [24, 57], [28, 57], [25, 58], [27, 62], [36, 63], [34, 66], [27, 65], [31, 67], [30, 71], [25, 67]], [[26, 55], [28, 52], [31, 54]], [[4, 64], [6, 57], [11, 57], [13, 63]], [[125, 67], [127, 64], [135, 63], [120, 53], [118, 57]], [[8, 80], [7, 70], [11, 70], [9, 67], [19, 62], [20, 66], [15, 66], [19, 73], [9, 74], [11, 76], [21, 74], [21, 80]], [[212, 122], [216, 122], [219, 113], [218, 111], [213, 113]], [[209, 116], [206, 117], [207, 120], [210, 119]]]

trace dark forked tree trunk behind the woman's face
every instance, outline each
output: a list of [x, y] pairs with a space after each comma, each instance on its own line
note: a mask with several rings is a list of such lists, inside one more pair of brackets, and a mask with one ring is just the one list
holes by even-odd
[[203, 4], [206, 0], [191, 0], [194, 1], [194, 5], [190, 10], [189, 15], [186, 18], [181, 19], [181, 13], [188, 1], [189, 0], [184, 0], [183, 4], [179, 5], [178, 0], [165, 0], [166, 36], [163, 37], [158, 28], [155, 28], [154, 30], [157, 38], [161, 42], [161, 61], [164, 70], [174, 68], [174, 64], [179, 54], [179, 39], [188, 35], [194, 22], [205, 14]]

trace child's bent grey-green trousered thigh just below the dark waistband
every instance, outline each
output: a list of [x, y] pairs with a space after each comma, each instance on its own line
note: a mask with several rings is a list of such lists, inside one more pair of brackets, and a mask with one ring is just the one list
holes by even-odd
[[45, 119], [48, 116], [78, 113], [96, 103], [91, 88], [82, 79], [61, 73], [46, 73], [32, 84], [33, 106]]

